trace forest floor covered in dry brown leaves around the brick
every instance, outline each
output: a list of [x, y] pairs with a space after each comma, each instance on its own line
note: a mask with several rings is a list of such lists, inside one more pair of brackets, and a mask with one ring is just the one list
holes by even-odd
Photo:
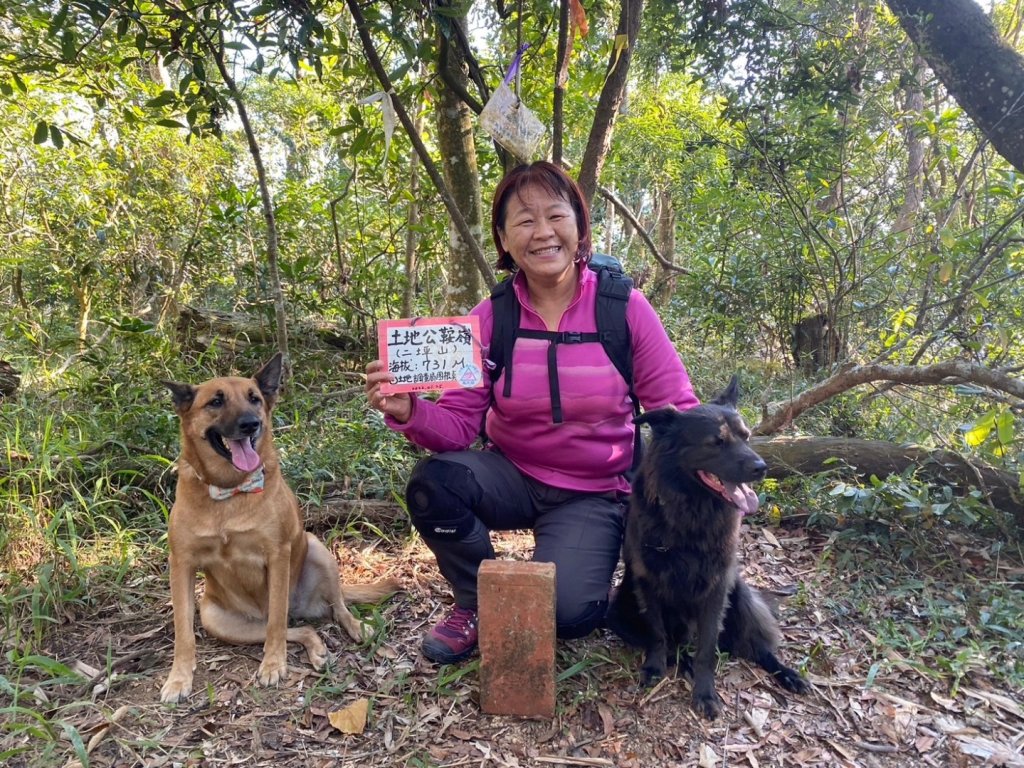
[[[259, 647], [199, 630], [195, 692], [164, 706], [173, 633], [166, 570], [154, 562], [116, 590], [97, 584], [90, 612], [62, 616], [16, 669], [5, 652], [0, 680], [15, 685], [0, 702], [16, 697], [0, 756], [12, 767], [63, 768], [1024, 766], [1024, 690], [1000, 682], [1021, 680], [1024, 599], [988, 597], [998, 583], [1019, 598], [1024, 569], [993, 556], [990, 542], [914, 536], [916, 550], [792, 522], [744, 526], [744, 573], [777, 598], [782, 658], [813, 689], [788, 694], [760, 669], [722, 659], [726, 709], [714, 722], [690, 709], [684, 679], [640, 687], [638, 654], [605, 632], [559, 642], [554, 719], [481, 714], [478, 660], [438, 668], [420, 655], [422, 634], [449, 604], [430, 553], [418, 540], [351, 538], [333, 542], [344, 581], [387, 574], [404, 585], [361, 608], [379, 629], [374, 641], [359, 646], [324, 625], [329, 669], [313, 672], [290, 646], [287, 684], [266, 689], [254, 683]], [[496, 545], [500, 557], [529, 557], [526, 535]], [[950, 611], [959, 631], [945, 629]], [[979, 641], [993, 636], [979, 624], [1000, 616], [994, 636], [1005, 642]], [[54, 660], [70, 672], [61, 677]], [[360, 732], [332, 725], [362, 703]]]

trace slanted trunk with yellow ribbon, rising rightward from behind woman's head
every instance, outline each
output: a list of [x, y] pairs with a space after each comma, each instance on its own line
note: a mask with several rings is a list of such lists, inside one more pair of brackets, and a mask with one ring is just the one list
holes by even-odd
[[601, 169], [604, 168], [604, 160], [611, 146], [611, 130], [615, 122], [615, 115], [618, 114], [618, 105], [623, 101], [623, 94], [626, 92], [626, 78], [629, 75], [633, 48], [640, 32], [643, 2], [644, 0], [622, 0], [618, 29], [615, 31], [614, 39], [626, 40], [626, 45], [625, 47], [615, 45], [611, 51], [611, 60], [608, 62], [604, 87], [597, 99], [594, 123], [590, 130], [590, 137], [587, 139], [587, 148], [584, 151], [583, 162], [580, 164], [580, 173], [577, 178], [580, 188], [583, 190], [584, 200], [587, 201], [588, 205], [593, 203], [594, 196], [597, 194]]

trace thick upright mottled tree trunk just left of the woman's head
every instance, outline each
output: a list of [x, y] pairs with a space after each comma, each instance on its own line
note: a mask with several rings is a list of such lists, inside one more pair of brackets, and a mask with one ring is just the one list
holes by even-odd
[[[450, 17], [453, 26], [465, 27], [465, 18]], [[447, 60], [437, 62], [438, 70], [446, 70], [463, 91], [469, 78], [457, 46], [438, 46]], [[480, 270], [474, 262], [474, 249], [482, 249], [483, 212], [480, 203], [480, 174], [476, 165], [476, 143], [473, 140], [473, 118], [466, 102], [442, 79], [437, 81], [439, 103], [437, 109], [437, 145], [440, 150], [444, 182], [462, 212], [475, 243], [467, 243], [455, 222], [449, 224], [451, 250], [451, 282], [445, 292], [445, 311], [465, 314], [480, 300]]]

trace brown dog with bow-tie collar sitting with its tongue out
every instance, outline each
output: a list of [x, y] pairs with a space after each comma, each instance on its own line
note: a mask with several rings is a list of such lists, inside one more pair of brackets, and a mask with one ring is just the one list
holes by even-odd
[[181, 420], [181, 457], [169, 534], [174, 664], [162, 701], [191, 692], [198, 570], [206, 577], [203, 627], [228, 643], [263, 643], [262, 685], [284, 680], [288, 642], [301, 643], [314, 669], [327, 663], [315, 630], [289, 628], [289, 615], [331, 615], [359, 641], [370, 629], [345, 600], [374, 602], [398, 589], [393, 580], [342, 587], [337, 560], [303, 530], [270, 433], [281, 377], [279, 353], [251, 379], [223, 377], [199, 386], [167, 382]]

